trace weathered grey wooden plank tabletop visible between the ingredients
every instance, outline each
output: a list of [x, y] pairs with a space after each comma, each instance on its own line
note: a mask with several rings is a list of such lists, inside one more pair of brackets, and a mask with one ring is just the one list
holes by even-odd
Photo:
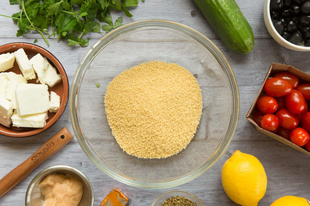
[[[210, 170], [189, 183], [173, 188], [141, 189], [131, 187], [117, 182], [99, 170], [82, 152], [78, 141], [74, 138], [58, 153], [33, 170], [11, 191], [2, 196], [0, 205], [24, 205], [25, 192], [32, 178], [44, 168], [58, 164], [76, 167], [86, 174], [94, 189], [94, 205], [100, 205], [113, 187], [117, 187], [129, 197], [130, 201], [127, 205], [130, 206], [148, 206], [158, 195], [170, 189], [185, 189], [193, 192], [208, 206], [237, 205], [225, 194], [220, 179], [222, 165], [236, 149], [255, 155], [266, 170], [268, 186], [259, 205], [270, 205], [274, 200], [284, 195], [296, 195], [310, 199], [310, 156], [267, 137], [245, 120], [246, 113], [262, 85], [270, 64], [272, 62], [289, 64], [310, 73], [309, 53], [286, 49], [271, 38], [264, 25], [263, 0], [236, 0], [236, 2], [248, 19], [255, 36], [254, 50], [247, 55], [236, 54], [228, 50], [192, 0], [146, 0], [145, 3], [140, 2], [139, 6], [131, 10], [134, 15], [133, 18], [127, 18], [123, 13], [118, 12], [112, 14], [113, 19], [122, 15], [124, 23], [143, 19], [167, 19], [185, 24], [208, 37], [224, 53], [237, 79], [240, 95], [240, 116], [231, 144], [222, 158]], [[8, 0], [1, 1], [0, 14], [10, 16], [18, 11], [20, 10], [17, 5], [9, 5]], [[17, 29], [17, 25], [11, 19], [0, 16], [0, 44], [11, 42], [33, 43], [34, 39], [38, 39], [37, 45], [48, 49], [63, 64], [71, 86], [78, 63], [90, 46], [84, 48], [69, 47], [66, 41], [57, 42], [54, 38], [49, 39], [50, 46], [47, 47], [42, 37], [36, 33], [25, 34], [17, 38]], [[96, 33], [89, 36], [91, 37], [90, 45], [92, 45], [104, 34]], [[0, 135], [0, 177], [23, 162], [64, 126], [68, 127], [73, 133], [69, 106], [56, 124], [39, 135], [27, 138], [10, 138]]]

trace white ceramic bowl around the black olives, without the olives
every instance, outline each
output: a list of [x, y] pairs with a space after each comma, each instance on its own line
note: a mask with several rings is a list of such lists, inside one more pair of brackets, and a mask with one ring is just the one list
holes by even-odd
[[289, 41], [285, 40], [274, 28], [270, 16], [270, 0], [265, 1], [265, 6], [264, 6], [264, 20], [265, 20], [265, 25], [266, 28], [269, 32], [269, 34], [272, 36], [274, 40], [276, 40], [280, 45], [295, 50], [295, 51], [300, 51], [300, 52], [308, 52], [310, 51], [310, 47], [305, 47], [303, 45], [296, 45], [292, 44]]

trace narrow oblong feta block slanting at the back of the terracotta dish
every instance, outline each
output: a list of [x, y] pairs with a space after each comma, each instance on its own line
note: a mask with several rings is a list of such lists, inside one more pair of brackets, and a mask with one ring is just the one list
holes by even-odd
[[33, 67], [24, 51], [24, 49], [20, 48], [15, 54], [16, 62], [20, 68], [20, 71], [23, 73], [24, 78], [28, 79], [35, 79], [36, 75], [34, 74]]

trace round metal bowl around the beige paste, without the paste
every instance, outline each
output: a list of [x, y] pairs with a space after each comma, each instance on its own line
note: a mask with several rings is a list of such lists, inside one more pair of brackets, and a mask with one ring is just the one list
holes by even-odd
[[42, 206], [44, 202], [44, 197], [39, 189], [39, 183], [47, 175], [59, 173], [59, 174], [69, 174], [73, 177], [78, 178], [83, 184], [83, 195], [78, 206], [93, 206], [94, 204], [94, 191], [91, 186], [89, 179], [80, 170], [67, 166], [67, 165], [55, 165], [47, 167], [46, 169], [39, 172], [30, 182], [28, 189], [26, 191], [25, 206]]

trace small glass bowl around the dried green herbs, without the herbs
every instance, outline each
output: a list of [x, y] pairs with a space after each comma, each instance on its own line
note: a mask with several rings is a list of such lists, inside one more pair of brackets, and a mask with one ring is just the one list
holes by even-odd
[[193, 193], [186, 191], [186, 190], [169, 190], [166, 191], [164, 193], [162, 193], [161, 195], [159, 195], [154, 202], [152, 203], [151, 206], [161, 206], [162, 203], [167, 200], [170, 197], [174, 197], [174, 196], [183, 196], [186, 197], [187, 199], [193, 201], [194, 203], [197, 204], [197, 206], [204, 206], [204, 204], [201, 202], [201, 200], [194, 195]]

